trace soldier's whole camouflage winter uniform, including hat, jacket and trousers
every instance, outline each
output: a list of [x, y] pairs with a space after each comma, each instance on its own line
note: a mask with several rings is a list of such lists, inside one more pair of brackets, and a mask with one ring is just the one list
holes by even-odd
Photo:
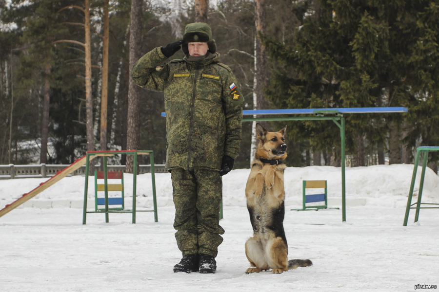
[[[201, 32], [203, 37], [204, 28], [200, 23], [188, 25], [185, 36], [198, 39]], [[218, 218], [219, 170], [224, 155], [238, 155], [243, 97], [231, 69], [220, 63], [215, 40], [209, 35], [198, 41], [209, 45], [205, 58], [191, 60], [185, 42], [186, 57], [158, 67], [166, 56], [155, 48], [137, 61], [131, 77], [143, 88], [164, 91], [166, 167], [172, 170], [178, 246], [183, 256], [216, 256], [224, 233]]]

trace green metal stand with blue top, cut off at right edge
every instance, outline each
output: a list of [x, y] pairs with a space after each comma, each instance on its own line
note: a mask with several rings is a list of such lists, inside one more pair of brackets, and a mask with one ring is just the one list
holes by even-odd
[[[404, 226], [407, 226], [407, 221], [408, 221], [410, 209], [416, 209], [415, 222], [418, 222], [420, 209], [439, 209], [439, 207], [421, 207], [421, 204], [423, 204], [423, 205], [439, 205], [437, 203], [421, 203], [422, 189], [424, 187], [425, 169], [427, 167], [427, 159], [428, 159], [428, 152], [429, 151], [439, 151], [439, 147], [438, 146], [420, 146], [420, 147], [416, 148], [415, 166], [413, 168], [412, 183], [410, 184], [410, 191], [409, 191], [409, 196], [407, 199], [407, 207], [405, 209], [405, 217], [404, 217], [404, 224], [403, 224]], [[420, 157], [421, 153], [423, 153], [424, 157], [422, 160], [422, 172], [421, 172], [421, 179], [420, 179], [420, 183], [419, 183], [418, 201], [416, 203], [412, 204], [413, 190], [415, 189], [416, 173], [418, 171], [419, 157]], [[412, 207], [413, 205], [416, 205], [416, 207]]]

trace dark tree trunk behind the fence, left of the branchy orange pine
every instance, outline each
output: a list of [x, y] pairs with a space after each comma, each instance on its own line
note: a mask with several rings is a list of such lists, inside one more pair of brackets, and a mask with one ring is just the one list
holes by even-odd
[[41, 116], [41, 149], [40, 164], [47, 163], [47, 140], [49, 138], [49, 106], [50, 106], [50, 63], [44, 68], [44, 86], [43, 86], [43, 106]]

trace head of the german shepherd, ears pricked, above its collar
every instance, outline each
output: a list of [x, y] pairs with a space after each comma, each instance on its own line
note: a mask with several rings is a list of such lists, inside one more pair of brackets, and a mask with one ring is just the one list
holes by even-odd
[[287, 157], [285, 131], [286, 126], [279, 132], [269, 132], [259, 123], [256, 123], [256, 135], [259, 139], [256, 159], [285, 159]]

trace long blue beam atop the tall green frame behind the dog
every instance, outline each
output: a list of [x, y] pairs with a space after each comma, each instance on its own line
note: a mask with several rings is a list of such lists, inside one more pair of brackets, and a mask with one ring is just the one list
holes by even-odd
[[[243, 110], [243, 115], [253, 114], [315, 114], [315, 113], [384, 113], [384, 112], [407, 112], [405, 107], [383, 108], [334, 108], [334, 109], [287, 109], [287, 110]], [[162, 117], [166, 113], [161, 113]]]

